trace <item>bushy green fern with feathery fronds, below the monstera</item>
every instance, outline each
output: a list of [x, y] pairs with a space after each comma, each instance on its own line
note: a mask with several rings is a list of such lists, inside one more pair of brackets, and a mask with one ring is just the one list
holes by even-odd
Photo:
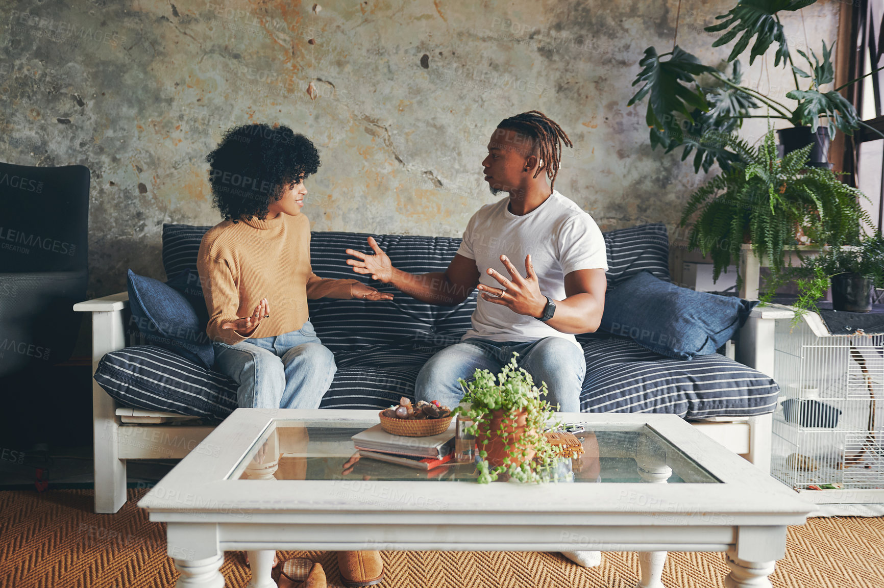
[[[690, 223], [688, 248], [712, 258], [713, 280], [739, 260], [743, 243], [758, 259], [766, 255], [778, 275], [783, 250], [799, 244], [799, 231], [812, 243], [840, 245], [858, 239], [860, 222], [872, 225], [857, 202], [862, 192], [832, 170], [805, 167], [812, 146], [780, 157], [773, 129], [758, 147], [736, 137], [728, 142], [741, 161], [693, 192], [679, 221]], [[736, 279], [739, 287], [739, 270]]]

